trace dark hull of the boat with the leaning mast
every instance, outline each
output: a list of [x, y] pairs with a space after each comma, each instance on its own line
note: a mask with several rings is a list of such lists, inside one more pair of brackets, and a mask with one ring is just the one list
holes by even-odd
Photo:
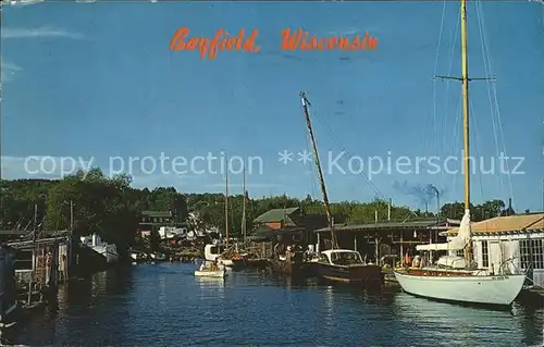
[[379, 265], [332, 265], [318, 262], [317, 270], [323, 280], [343, 283], [381, 284], [382, 268]]

